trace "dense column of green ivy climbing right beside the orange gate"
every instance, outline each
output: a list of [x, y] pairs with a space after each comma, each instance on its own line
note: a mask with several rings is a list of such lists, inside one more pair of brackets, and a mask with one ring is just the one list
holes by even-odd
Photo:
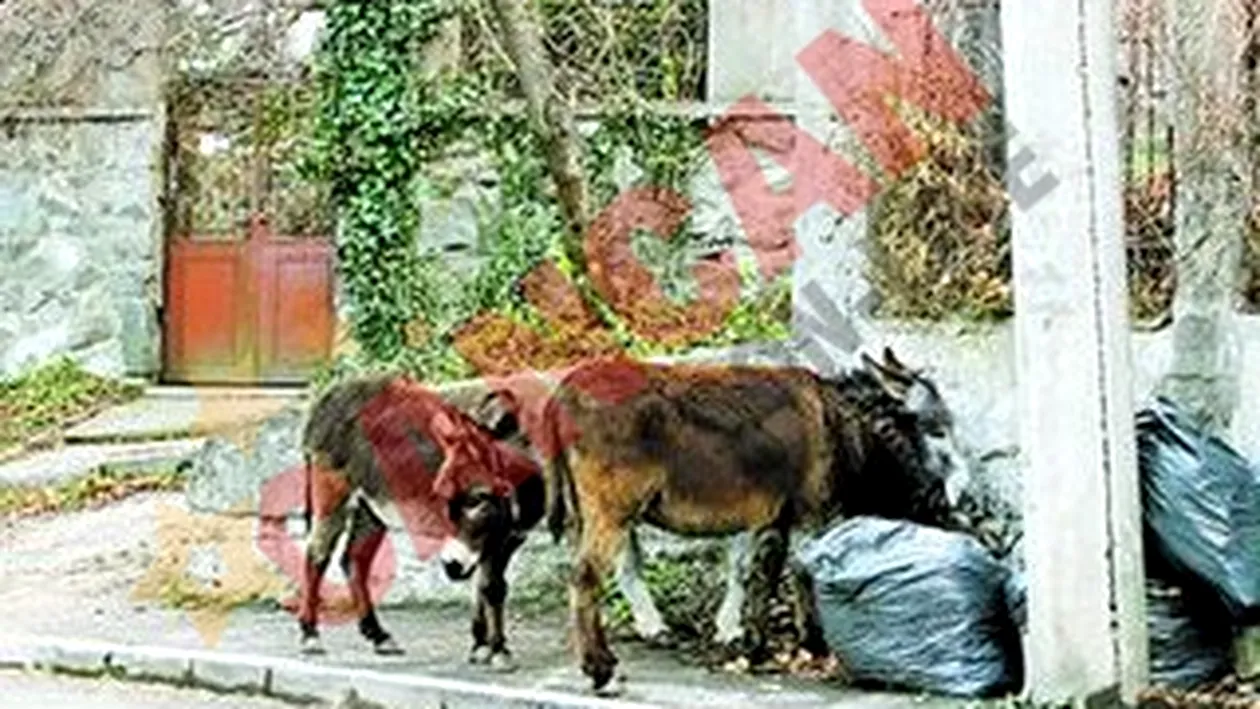
[[441, 0], [336, 0], [316, 62], [309, 171], [328, 185], [340, 227], [353, 335], [379, 361], [403, 359], [406, 325], [432, 307], [415, 190], [467, 125], [470, 96], [457, 78], [427, 72], [422, 48], [451, 13]]

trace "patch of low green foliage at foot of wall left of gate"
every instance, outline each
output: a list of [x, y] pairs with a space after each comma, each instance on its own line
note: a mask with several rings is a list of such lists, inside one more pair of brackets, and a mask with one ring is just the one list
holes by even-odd
[[140, 387], [89, 374], [68, 358], [0, 379], [0, 450], [140, 393]]

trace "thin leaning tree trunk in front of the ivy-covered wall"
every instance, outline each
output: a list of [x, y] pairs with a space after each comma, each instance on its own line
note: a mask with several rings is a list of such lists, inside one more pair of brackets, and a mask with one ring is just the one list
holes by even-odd
[[582, 237], [592, 218], [590, 189], [582, 171], [573, 115], [556, 92], [539, 21], [530, 3], [532, 0], [490, 0], [499, 20], [504, 49], [517, 65], [529, 122], [543, 141], [547, 166], [570, 228], [566, 252], [578, 271], [583, 272]]

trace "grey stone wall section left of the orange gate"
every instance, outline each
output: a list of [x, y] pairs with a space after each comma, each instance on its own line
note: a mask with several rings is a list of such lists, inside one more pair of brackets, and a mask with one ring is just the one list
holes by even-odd
[[62, 354], [102, 374], [155, 373], [161, 6], [13, 5], [0, 23], [0, 375]]

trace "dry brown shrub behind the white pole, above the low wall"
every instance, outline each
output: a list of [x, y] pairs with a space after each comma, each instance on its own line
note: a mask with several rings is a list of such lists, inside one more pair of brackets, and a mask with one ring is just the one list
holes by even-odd
[[[922, 320], [1011, 315], [1008, 199], [979, 128], [910, 112], [907, 123], [926, 157], [888, 185], [871, 210], [868, 277], [881, 296], [879, 314]], [[1176, 287], [1167, 171], [1125, 186], [1124, 220], [1130, 316], [1162, 322]], [[1247, 253], [1260, 263], [1260, 230], [1251, 234]], [[1251, 287], [1260, 292], [1260, 277]]]

